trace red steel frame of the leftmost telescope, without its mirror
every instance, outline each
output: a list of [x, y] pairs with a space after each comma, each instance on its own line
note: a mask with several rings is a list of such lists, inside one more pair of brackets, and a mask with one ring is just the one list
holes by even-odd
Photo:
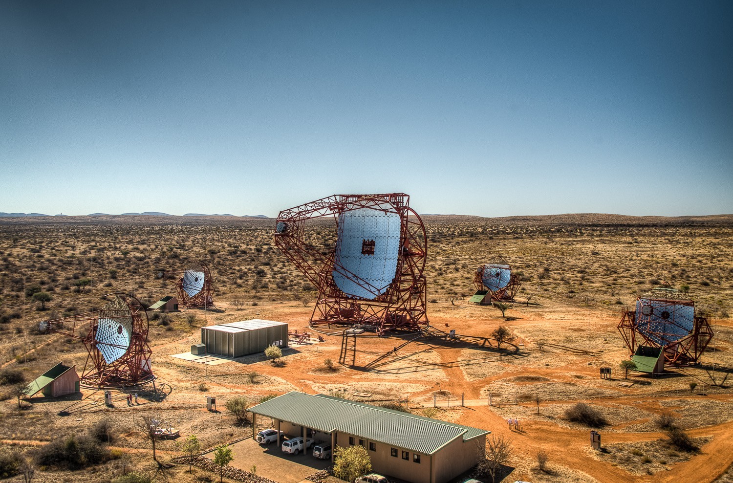
[[[86, 347], [86, 363], [81, 374], [81, 382], [87, 387], [119, 387], [132, 386], [149, 380], [152, 375], [150, 356], [152, 350], [147, 344], [148, 318], [147, 312], [132, 295], [115, 292], [105, 297], [115, 298], [105, 308], [86, 314], [73, 315], [62, 319], [48, 320], [40, 323], [40, 331], [60, 333], [84, 342]], [[99, 320], [132, 320], [130, 345], [106, 344], [115, 347], [124, 354], [117, 361], [107, 364], [97, 347], [96, 335]]]

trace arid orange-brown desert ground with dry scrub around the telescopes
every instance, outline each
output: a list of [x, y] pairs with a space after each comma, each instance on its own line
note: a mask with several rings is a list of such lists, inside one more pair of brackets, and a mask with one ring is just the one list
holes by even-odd
[[[172, 357], [200, 342], [203, 325], [262, 318], [309, 330], [316, 292], [274, 246], [273, 220], [0, 218], [0, 366], [19, 369], [28, 380], [59, 361], [81, 369], [86, 360], [78, 340], [39, 333], [40, 320], [99, 309], [109, 292], [130, 292], [144, 303], [174, 295], [174, 280], [158, 278], [156, 270], [205, 260], [218, 307], [151, 320], [158, 391], [140, 388], [139, 405], [129, 407], [115, 391], [114, 408], [107, 408], [102, 391], [83, 389], [81, 397], [38, 395], [18, 409], [10, 386], [0, 386], [2, 451], [30, 454], [52, 438], [109, 419], [117, 459], [81, 471], [39, 468], [34, 481], [111, 481], [123, 465], [155, 471], [150, 445], [136, 429], [143, 414], [169, 421], [182, 435], [196, 434], [209, 448], [251, 435], [251, 426], [236, 424], [224, 410], [228, 398], [256, 402], [296, 390], [377, 404], [402, 401], [413, 413], [504, 435], [512, 441], [505, 482], [733, 481], [733, 215], [426, 215], [424, 223], [431, 328], [421, 336], [359, 338], [356, 358], [329, 369], [326, 359], [339, 361], [339, 336], [291, 347], [282, 366], [262, 355], [218, 365]], [[328, 250], [334, 230], [315, 226], [309, 237]], [[497, 257], [523, 284], [506, 317], [468, 302], [476, 267]], [[628, 353], [616, 325], [638, 295], [663, 283], [696, 301], [710, 316], [715, 338], [699, 366], [668, 367], [663, 377], [631, 373], [633, 385], [621, 386], [619, 363]], [[43, 310], [26, 296], [34, 286], [51, 295]], [[491, 338], [499, 325], [515, 336], [501, 349]], [[456, 339], [447, 336], [451, 330]], [[602, 366], [613, 369], [611, 380], [600, 379]], [[697, 385], [693, 391], [690, 383]], [[216, 396], [220, 413], [206, 410], [207, 396]], [[564, 416], [576, 402], [607, 420], [598, 429], [605, 451], [589, 447], [590, 427]], [[674, 416], [699, 451], [672, 448], [657, 424], [662, 415]], [[522, 430], [510, 431], [507, 418], [520, 419]], [[158, 452], [166, 462], [180, 456], [173, 441], [159, 442]], [[548, 455], [546, 471], [537, 467], [538, 452]], [[232, 464], [248, 469], [247, 458], [236, 454]], [[272, 478], [262, 473], [267, 469], [258, 474]], [[218, 475], [173, 465], [156, 478], [199, 482]]]

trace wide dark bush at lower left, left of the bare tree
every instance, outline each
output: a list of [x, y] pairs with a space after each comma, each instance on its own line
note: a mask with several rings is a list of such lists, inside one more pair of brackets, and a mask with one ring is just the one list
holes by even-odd
[[78, 470], [111, 460], [108, 449], [89, 436], [58, 438], [37, 449], [34, 459], [40, 466]]

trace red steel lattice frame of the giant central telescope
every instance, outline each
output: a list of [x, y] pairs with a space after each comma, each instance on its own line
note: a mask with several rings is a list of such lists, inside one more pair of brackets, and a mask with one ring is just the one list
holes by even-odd
[[[276, 222], [275, 244], [295, 263], [318, 289], [311, 316], [312, 325], [374, 325], [377, 332], [392, 329], [419, 331], [427, 328], [427, 282], [423, 274], [427, 257], [427, 236], [419, 215], [409, 207], [405, 193], [336, 194], [283, 210]], [[377, 287], [340, 265], [336, 267], [336, 247], [323, 251], [308, 243], [306, 221], [334, 217], [338, 232], [339, 215], [369, 208], [397, 213], [400, 218], [397, 270], [387, 290], [371, 300], [348, 295], [334, 282], [334, 268], [368, 292]]]

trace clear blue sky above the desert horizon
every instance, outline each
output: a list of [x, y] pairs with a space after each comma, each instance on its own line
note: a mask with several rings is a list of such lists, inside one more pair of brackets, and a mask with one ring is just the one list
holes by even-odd
[[0, 212], [733, 213], [732, 1], [0, 1]]

